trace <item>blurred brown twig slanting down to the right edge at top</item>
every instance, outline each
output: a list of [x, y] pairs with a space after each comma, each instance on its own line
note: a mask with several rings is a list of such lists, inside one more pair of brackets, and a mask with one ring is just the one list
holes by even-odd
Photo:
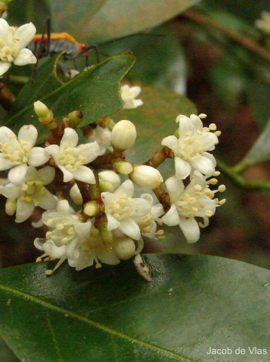
[[182, 13], [182, 15], [199, 24], [206, 25], [208, 28], [219, 30], [221, 33], [225, 34], [228, 38], [232, 39], [236, 43], [241, 44], [246, 49], [256, 53], [267, 62], [270, 62], [270, 52], [267, 51], [256, 41], [248, 37], [245, 37], [244, 35], [240, 35], [235, 31], [223, 28], [223, 26], [216, 24], [215, 22], [211, 21], [207, 16], [197, 12], [196, 10], [191, 10], [191, 9], [186, 10], [184, 13]]

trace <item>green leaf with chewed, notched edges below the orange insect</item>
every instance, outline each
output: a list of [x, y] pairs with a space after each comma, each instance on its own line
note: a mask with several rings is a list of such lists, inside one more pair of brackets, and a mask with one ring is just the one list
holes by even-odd
[[43, 142], [49, 132], [38, 122], [33, 106], [35, 101], [45, 103], [58, 119], [73, 110], [82, 111], [84, 120], [80, 127], [83, 127], [121, 108], [120, 82], [135, 62], [134, 56], [128, 52], [113, 56], [78, 74], [68, 83], [62, 83], [55, 71], [59, 56], [55, 55], [42, 64], [35, 83], [29, 81], [22, 88], [12, 115], [9, 114], [3, 122], [15, 133], [22, 125], [33, 124], [39, 131], [38, 143]]

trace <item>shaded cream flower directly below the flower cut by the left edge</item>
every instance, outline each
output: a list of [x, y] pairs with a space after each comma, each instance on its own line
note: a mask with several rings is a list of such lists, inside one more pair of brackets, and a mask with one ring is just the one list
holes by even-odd
[[[44, 185], [50, 184], [54, 176], [55, 171], [52, 167], [46, 166], [37, 171], [34, 167], [28, 166], [21, 185], [17, 184], [16, 179], [13, 180], [13, 174], [12, 177], [8, 177], [10, 183], [2, 186], [1, 193], [8, 198], [8, 201], [17, 200], [17, 203], [16, 201], [14, 203], [12, 212], [13, 215], [16, 211], [16, 223], [28, 219], [33, 214], [35, 206], [45, 210], [56, 207], [57, 201], [55, 197], [44, 187]], [[10, 210], [8, 201], [7, 207]]]

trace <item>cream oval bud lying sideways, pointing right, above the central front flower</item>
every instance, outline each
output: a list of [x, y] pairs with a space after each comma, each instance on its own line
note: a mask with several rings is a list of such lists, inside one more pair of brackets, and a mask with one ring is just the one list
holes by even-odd
[[160, 172], [157, 171], [157, 169], [146, 165], [134, 166], [130, 178], [137, 186], [144, 190], [156, 189], [161, 182], [163, 182], [163, 177]]

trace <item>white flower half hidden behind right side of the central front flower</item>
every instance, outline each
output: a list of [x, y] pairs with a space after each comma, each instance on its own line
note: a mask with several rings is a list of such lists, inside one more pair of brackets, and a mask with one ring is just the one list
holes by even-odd
[[143, 236], [149, 237], [150, 239], [157, 239], [156, 230], [157, 230], [157, 221], [160, 220], [159, 217], [164, 214], [164, 209], [161, 203], [153, 204], [153, 197], [150, 194], [142, 194], [141, 198], [144, 198], [151, 202], [151, 210], [148, 214], [136, 218], [135, 221], [139, 225], [140, 231]]

